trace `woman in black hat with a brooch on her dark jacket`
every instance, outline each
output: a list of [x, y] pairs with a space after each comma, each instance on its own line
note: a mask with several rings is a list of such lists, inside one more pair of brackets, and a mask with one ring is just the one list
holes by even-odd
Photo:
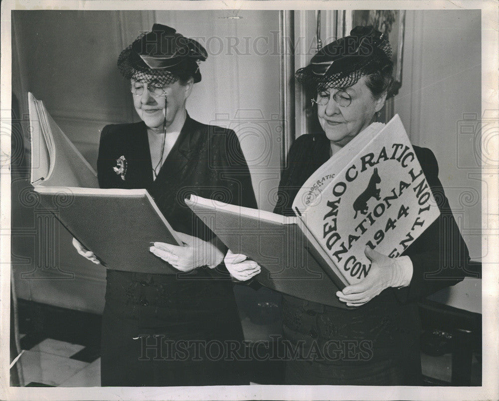
[[[195, 193], [256, 206], [234, 131], [194, 121], [186, 111], [206, 58], [197, 41], [154, 24], [118, 59], [142, 121], [104, 127], [99, 184], [146, 188], [185, 242], [155, 242], [151, 252], [190, 273], [148, 274], [147, 266], [137, 266], [137, 273], [107, 271], [102, 386], [248, 384], [238, 363], [227, 360], [228, 348], [241, 346], [243, 332], [230, 276], [221, 279], [215, 272], [226, 249], [183, 202]], [[92, 252], [75, 246], [98, 263]]]

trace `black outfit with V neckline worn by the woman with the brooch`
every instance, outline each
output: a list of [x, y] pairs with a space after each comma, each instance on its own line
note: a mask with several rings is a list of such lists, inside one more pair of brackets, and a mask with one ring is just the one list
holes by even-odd
[[[121, 156], [125, 180], [113, 170]], [[143, 122], [104, 127], [97, 167], [101, 188], [147, 189], [175, 230], [204, 240], [214, 234], [184, 203], [188, 194], [256, 207], [234, 131], [189, 116], [156, 180]], [[244, 369], [227, 361], [243, 331], [223, 264], [180, 275], [140, 271], [107, 271], [102, 386], [248, 384]]]

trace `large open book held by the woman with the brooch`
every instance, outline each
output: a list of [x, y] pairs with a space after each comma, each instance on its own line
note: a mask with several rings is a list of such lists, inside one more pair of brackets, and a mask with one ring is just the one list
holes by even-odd
[[[146, 190], [99, 189], [97, 174], [28, 93], [31, 184], [41, 203], [109, 269], [176, 274], [150, 242], [181, 244]], [[76, 251], [75, 251], [76, 252]]]

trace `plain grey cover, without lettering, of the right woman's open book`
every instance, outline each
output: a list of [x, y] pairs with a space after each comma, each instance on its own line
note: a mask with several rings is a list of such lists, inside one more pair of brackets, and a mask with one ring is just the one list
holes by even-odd
[[195, 195], [185, 201], [229, 249], [260, 265], [255, 278], [265, 287], [348, 309], [335, 295], [348, 282], [298, 217]]

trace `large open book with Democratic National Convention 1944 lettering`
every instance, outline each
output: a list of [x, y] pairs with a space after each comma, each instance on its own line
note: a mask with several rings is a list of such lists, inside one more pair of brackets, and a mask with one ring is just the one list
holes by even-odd
[[262, 284], [335, 306], [336, 288], [369, 273], [366, 245], [399, 256], [440, 214], [398, 115], [324, 163], [298, 191], [293, 217], [196, 196], [188, 204], [233, 252], [260, 264]]

